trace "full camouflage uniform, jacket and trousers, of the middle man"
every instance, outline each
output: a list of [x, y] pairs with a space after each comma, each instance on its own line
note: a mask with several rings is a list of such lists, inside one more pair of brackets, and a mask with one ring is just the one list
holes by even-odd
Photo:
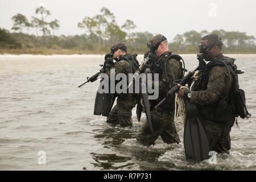
[[[173, 81], [177, 80], [182, 75], [182, 68], [180, 61], [176, 59], [168, 59], [166, 64], [166, 73], [164, 71], [164, 66], [162, 65], [166, 61], [170, 51], [163, 53], [159, 59], [156, 60], [156, 67], [154, 73], [159, 73], [159, 97], [157, 100], [151, 103], [151, 121], [152, 127], [154, 129], [154, 135], [150, 133], [148, 123], [145, 121], [139, 128], [137, 133], [137, 141], [145, 146], [150, 146], [154, 144], [155, 140], [159, 137], [163, 139], [164, 143], [179, 143], [179, 135], [177, 135], [175, 123], [174, 123], [174, 106], [170, 106], [170, 102], [164, 102], [158, 110], [154, 107], [157, 105], [164, 97], [166, 93], [174, 86]], [[155, 81], [154, 81], [155, 82]], [[174, 105], [174, 100], [171, 101]]]

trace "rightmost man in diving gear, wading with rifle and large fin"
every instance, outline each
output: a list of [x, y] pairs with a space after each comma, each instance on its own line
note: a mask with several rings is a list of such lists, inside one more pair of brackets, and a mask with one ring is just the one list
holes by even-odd
[[[182, 87], [179, 97], [186, 101], [184, 148], [187, 159], [204, 160], [209, 151], [229, 153], [230, 131], [235, 118], [249, 118], [245, 94], [239, 88], [235, 59], [222, 55], [222, 40], [216, 34], [204, 36], [199, 44], [201, 65], [190, 89]], [[203, 59], [208, 64], [203, 64]]]

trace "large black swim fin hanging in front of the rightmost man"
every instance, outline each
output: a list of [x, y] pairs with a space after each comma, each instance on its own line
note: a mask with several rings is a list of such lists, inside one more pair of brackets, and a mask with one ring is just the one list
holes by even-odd
[[209, 159], [209, 139], [201, 123], [196, 105], [187, 101], [184, 127], [184, 149], [187, 160], [200, 162]]

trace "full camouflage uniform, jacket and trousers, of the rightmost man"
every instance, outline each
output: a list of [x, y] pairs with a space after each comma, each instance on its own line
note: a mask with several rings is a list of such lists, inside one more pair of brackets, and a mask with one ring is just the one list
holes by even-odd
[[[217, 59], [225, 60], [230, 58], [221, 54], [217, 56]], [[210, 61], [208, 65], [213, 64], [213, 62], [214, 60]], [[221, 102], [219, 101], [221, 98], [229, 98], [230, 93], [232, 93], [233, 77], [226, 67], [217, 65], [209, 70], [207, 78], [203, 78], [201, 82], [196, 88], [197, 91], [191, 91], [191, 102], [197, 104], [203, 119], [202, 124], [208, 134], [210, 150], [229, 153], [229, 133], [235, 118], [232, 111], [228, 115], [222, 112], [225, 111], [225, 108], [226, 110], [233, 110], [233, 107], [228, 105], [225, 108], [221, 108], [219, 105]], [[206, 89], [204, 85], [206, 85]], [[225, 118], [218, 119], [223, 114]]]

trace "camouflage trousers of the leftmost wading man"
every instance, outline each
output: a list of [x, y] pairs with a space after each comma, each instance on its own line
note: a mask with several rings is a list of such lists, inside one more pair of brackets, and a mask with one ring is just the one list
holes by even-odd
[[119, 124], [122, 127], [132, 126], [131, 110], [136, 104], [137, 101], [135, 99], [118, 97], [117, 104], [110, 111], [106, 122], [113, 125]]

